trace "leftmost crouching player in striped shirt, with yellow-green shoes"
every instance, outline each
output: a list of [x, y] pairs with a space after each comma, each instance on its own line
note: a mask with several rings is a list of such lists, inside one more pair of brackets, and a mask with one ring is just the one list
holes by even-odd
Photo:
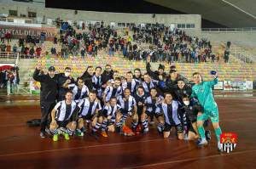
[[59, 134], [63, 134], [65, 139], [69, 139], [76, 129], [76, 120], [79, 113], [79, 106], [73, 101], [73, 93], [68, 91], [65, 100], [60, 101], [51, 111], [49, 130], [54, 134], [53, 140], [58, 141]]

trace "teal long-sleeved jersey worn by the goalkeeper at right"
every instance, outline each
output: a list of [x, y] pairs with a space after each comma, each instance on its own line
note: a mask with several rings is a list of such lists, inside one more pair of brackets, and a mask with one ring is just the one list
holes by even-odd
[[218, 78], [210, 82], [201, 82], [195, 84], [192, 87], [192, 97], [196, 97], [199, 100], [201, 106], [204, 110], [211, 111], [217, 108], [217, 104], [213, 98], [212, 87], [218, 83]]

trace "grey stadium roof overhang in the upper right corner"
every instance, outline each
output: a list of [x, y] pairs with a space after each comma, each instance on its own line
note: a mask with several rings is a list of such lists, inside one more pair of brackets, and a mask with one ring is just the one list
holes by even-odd
[[228, 27], [256, 27], [255, 0], [145, 0]]

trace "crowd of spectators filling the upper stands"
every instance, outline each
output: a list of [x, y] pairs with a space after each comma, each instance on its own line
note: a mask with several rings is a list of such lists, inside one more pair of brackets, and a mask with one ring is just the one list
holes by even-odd
[[[60, 56], [67, 59], [70, 56], [96, 57], [98, 51], [105, 50], [110, 57], [123, 55], [129, 60], [145, 60], [148, 54], [151, 61], [169, 64], [173, 62], [201, 63], [219, 61], [220, 54], [212, 52], [212, 44], [207, 39], [190, 37], [182, 30], [173, 29], [165, 25], [155, 24], [146, 26], [132, 25], [125, 30], [124, 35], [118, 35], [116, 29], [110, 25], [105, 26], [102, 21], [100, 25], [85, 25], [82, 27], [69, 25], [62, 22], [60, 32], [54, 37], [53, 45], [45, 54]], [[80, 28], [79, 30], [77, 28]], [[2, 38], [3, 37], [3, 38]], [[13, 47], [9, 45], [11, 35], [1, 34], [1, 51], [19, 52], [26, 58], [40, 57], [42, 55], [42, 43], [45, 34], [38, 37], [27, 36], [19, 39], [19, 44]], [[7, 43], [4, 40], [7, 39]], [[58, 44], [59, 43], [59, 44]], [[56, 48], [58, 44], [61, 47]], [[19, 46], [19, 47], [18, 47]], [[229, 52], [224, 55], [228, 62]]]

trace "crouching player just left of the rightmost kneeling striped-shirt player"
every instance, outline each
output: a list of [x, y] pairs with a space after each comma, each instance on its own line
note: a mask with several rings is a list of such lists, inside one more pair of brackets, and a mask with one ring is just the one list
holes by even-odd
[[162, 96], [157, 96], [156, 88], [150, 89], [150, 96], [148, 96], [144, 101], [143, 114], [141, 117], [141, 121], [143, 123], [143, 132], [148, 132], [148, 116], [153, 116], [153, 121], [154, 116], [157, 118], [159, 121], [157, 127], [158, 131], [163, 132], [165, 123], [163, 115], [156, 113], [156, 108], [158, 104], [161, 104], [163, 99], [164, 98]]

